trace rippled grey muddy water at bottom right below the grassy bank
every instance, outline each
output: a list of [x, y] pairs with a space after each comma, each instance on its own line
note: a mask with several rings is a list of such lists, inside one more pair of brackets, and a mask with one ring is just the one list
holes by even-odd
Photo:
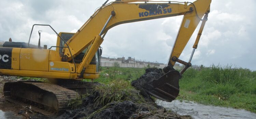
[[195, 119], [256, 119], [256, 114], [243, 109], [232, 109], [219, 106], [209, 106], [194, 102], [159, 101], [158, 105], [177, 112], [180, 115], [190, 115]]

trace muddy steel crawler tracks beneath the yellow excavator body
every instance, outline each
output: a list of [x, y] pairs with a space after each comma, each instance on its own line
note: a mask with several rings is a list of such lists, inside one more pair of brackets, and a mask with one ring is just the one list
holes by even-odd
[[83, 94], [90, 94], [94, 86], [100, 85], [96, 82], [76, 80], [58, 80], [55, 83], [40, 81], [6, 82], [3, 89], [4, 97], [7, 100], [31, 101], [39, 108], [58, 112], [69, 109], [71, 100], [75, 100]]

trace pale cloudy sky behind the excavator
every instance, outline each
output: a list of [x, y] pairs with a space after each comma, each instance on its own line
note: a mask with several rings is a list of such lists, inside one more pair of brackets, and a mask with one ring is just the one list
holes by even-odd
[[[110, 0], [114, 1], [114, 0]], [[177, 0], [182, 1], [182, 0]], [[193, 2], [194, 0], [189, 0]], [[0, 41], [28, 42], [33, 24], [50, 24], [57, 32], [76, 32], [105, 0], [1, 0]], [[192, 65], [232, 65], [256, 70], [255, 0], [212, 0]], [[167, 63], [183, 16], [118, 25], [104, 38], [102, 56], [135, 57]], [[180, 59], [188, 62], [200, 24]], [[56, 46], [57, 36], [47, 27], [35, 27], [31, 43]]]

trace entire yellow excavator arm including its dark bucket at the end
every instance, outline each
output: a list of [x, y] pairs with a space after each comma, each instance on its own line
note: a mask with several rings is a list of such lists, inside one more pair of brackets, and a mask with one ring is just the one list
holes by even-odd
[[[133, 2], [138, 1], [141, 0]], [[167, 3], [151, 3], [150, 1], [132, 3], [130, 0], [119, 0], [107, 5], [103, 4], [67, 42], [67, 45], [72, 50], [64, 50], [62, 59], [71, 60], [71, 54], [75, 57], [75, 55], [88, 47], [82, 63], [76, 70], [78, 78], [83, 78], [89, 62], [103, 42], [106, 32], [112, 27], [122, 23], [184, 15], [168, 65], [163, 68], [165, 74], [153, 82], [144, 84], [142, 87], [152, 96], [170, 102], [179, 95], [179, 79], [182, 73], [191, 66], [191, 59], [197, 48], [208, 13], [210, 12], [210, 3], [211, 0], [197, 0], [193, 3], [184, 2], [183, 4], [172, 3], [170, 1]], [[204, 19], [202, 19], [203, 16]], [[179, 59], [179, 56], [201, 20], [203, 22], [195, 45], [193, 46], [194, 49], [190, 60], [189, 62], [182, 61]], [[181, 72], [173, 68], [175, 62], [185, 65]]]

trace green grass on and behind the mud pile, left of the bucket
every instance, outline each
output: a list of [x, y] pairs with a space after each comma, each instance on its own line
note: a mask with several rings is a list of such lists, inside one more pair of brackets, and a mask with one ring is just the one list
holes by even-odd
[[[131, 86], [131, 81], [136, 80], [144, 72], [145, 70], [141, 68], [102, 67], [100, 78], [94, 81], [105, 85], [94, 87], [93, 93], [99, 95], [94, 99], [95, 106], [99, 104], [105, 106], [110, 102], [123, 102], [125, 100], [143, 103], [144, 98]], [[84, 79], [83, 81], [91, 80]], [[71, 100], [69, 105], [72, 108], [77, 108], [82, 104], [83, 98], [78, 97]]]

